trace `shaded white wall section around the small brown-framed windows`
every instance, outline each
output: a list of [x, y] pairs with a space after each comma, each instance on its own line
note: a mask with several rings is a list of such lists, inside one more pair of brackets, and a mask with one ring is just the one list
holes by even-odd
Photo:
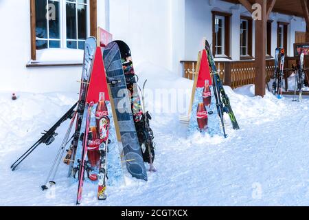
[[[203, 37], [212, 43], [211, 11], [228, 12], [231, 17], [231, 58], [240, 60], [240, 16], [251, 16], [240, 4], [227, 3], [220, 0], [185, 0], [185, 57], [184, 60], [195, 61], [198, 51], [203, 49]], [[295, 32], [306, 32], [304, 19], [286, 14], [271, 13], [272, 25], [272, 55], [277, 47], [277, 22], [290, 23], [288, 26], [288, 56], [293, 56]], [[253, 56], [255, 56], [255, 22], [253, 22]], [[222, 58], [220, 58], [222, 60]], [[226, 59], [229, 61], [228, 59]]]

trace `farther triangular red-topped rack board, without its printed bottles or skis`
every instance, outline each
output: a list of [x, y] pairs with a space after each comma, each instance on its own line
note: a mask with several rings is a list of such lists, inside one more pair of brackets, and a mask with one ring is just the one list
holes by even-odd
[[[211, 83], [206, 50], [203, 50], [198, 54], [198, 64], [196, 66], [196, 72], [197, 74], [195, 74], [194, 76], [194, 87], [192, 89], [193, 101], [192, 109], [190, 109], [190, 124], [187, 135], [188, 137], [194, 135], [195, 133], [208, 133], [210, 136], [222, 135], [222, 132], [220, 130], [220, 119], [216, 114], [216, 99], [214, 98], [214, 88]], [[200, 131], [200, 129], [198, 128], [196, 114], [198, 110], [198, 104], [203, 102], [203, 90], [206, 80], [209, 82], [209, 88], [211, 91], [211, 104], [210, 106], [205, 106], [208, 115], [208, 127], [205, 131]]]

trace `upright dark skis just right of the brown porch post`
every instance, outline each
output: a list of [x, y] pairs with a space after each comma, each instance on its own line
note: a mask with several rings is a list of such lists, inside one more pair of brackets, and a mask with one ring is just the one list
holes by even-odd
[[[277, 95], [277, 98], [282, 98], [282, 87], [284, 78], [284, 48], [277, 48], [275, 50], [275, 70], [273, 73], [273, 95]], [[279, 63], [280, 58], [280, 63]]]

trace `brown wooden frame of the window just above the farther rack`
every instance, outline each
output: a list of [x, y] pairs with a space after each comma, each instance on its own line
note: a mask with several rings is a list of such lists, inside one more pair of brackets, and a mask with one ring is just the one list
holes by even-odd
[[215, 39], [216, 39], [216, 33], [215, 33], [215, 21], [216, 21], [216, 16], [220, 17], [225, 17], [225, 28], [224, 28], [224, 50], [225, 53], [223, 55], [215, 55], [215, 58], [227, 58], [231, 60], [231, 13], [227, 12], [218, 12], [218, 11], [211, 11], [212, 13], [212, 50], [213, 52], [216, 51], [215, 47]]

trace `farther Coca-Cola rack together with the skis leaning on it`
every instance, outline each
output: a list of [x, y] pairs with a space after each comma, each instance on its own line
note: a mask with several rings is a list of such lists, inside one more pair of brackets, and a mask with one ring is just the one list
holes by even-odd
[[[208, 133], [210, 136], [223, 133], [224, 137], [227, 137], [224, 113], [229, 115], [233, 129], [238, 130], [240, 128], [231, 108], [229, 97], [225, 93], [216, 69], [214, 56], [207, 41], [205, 41], [205, 50], [198, 54], [196, 70], [192, 89], [192, 105], [189, 110], [188, 136], [199, 131], [202, 134]], [[217, 112], [219, 117], [214, 112]], [[181, 117], [182, 120], [185, 122], [184, 117]]]

